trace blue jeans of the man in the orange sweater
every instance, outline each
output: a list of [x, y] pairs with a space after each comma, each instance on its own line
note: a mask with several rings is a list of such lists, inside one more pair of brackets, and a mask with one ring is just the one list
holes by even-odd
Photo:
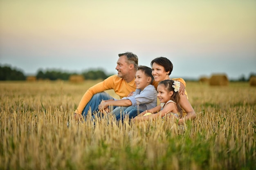
[[101, 92], [97, 93], [92, 96], [92, 99], [88, 102], [88, 104], [85, 106], [83, 109], [82, 115], [86, 119], [86, 116], [88, 114], [88, 111], [91, 109], [92, 110], [92, 115], [94, 115], [94, 112], [98, 111], [98, 106], [101, 103], [102, 100], [109, 100], [113, 99], [108, 93], [106, 92]]

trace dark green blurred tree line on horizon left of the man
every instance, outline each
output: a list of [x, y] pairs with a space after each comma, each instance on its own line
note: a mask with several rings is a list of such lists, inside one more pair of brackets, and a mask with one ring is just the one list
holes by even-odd
[[[45, 71], [39, 69], [35, 77], [36, 79], [68, 80], [71, 75], [83, 75], [85, 79], [106, 79], [108, 76], [110, 76], [106, 75], [106, 73], [101, 69], [83, 71], [81, 74], [75, 72], [70, 73], [60, 69], [47, 69]], [[0, 66], [0, 81], [26, 80], [26, 78], [27, 76], [25, 76], [25, 74], [17, 68], [11, 68], [10, 66]]]

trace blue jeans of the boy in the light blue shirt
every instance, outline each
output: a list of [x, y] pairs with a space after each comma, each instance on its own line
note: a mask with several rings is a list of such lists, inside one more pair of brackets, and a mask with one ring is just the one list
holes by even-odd
[[[118, 109], [119, 113], [115, 112], [113, 115], [117, 118], [117, 120], [121, 120], [121, 121], [124, 121], [124, 119], [127, 116], [129, 117], [129, 119], [132, 119], [133, 117], [136, 117], [137, 115], [139, 115], [139, 113], [144, 111], [144, 110], [137, 109], [136, 106], [121, 107], [121, 108], [118, 107], [116, 109]], [[123, 110], [120, 111], [120, 109], [123, 109]]]

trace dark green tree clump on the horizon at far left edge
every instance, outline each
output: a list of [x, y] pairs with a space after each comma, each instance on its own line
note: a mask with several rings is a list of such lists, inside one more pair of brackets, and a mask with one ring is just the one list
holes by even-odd
[[25, 80], [26, 76], [22, 71], [10, 66], [0, 66], [0, 80]]

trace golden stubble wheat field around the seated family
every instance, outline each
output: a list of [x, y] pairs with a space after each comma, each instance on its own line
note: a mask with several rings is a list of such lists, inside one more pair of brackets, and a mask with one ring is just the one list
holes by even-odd
[[187, 82], [197, 118], [181, 126], [111, 117], [78, 123], [73, 111], [97, 82], [0, 82], [0, 169], [256, 168], [256, 88], [248, 82]]

